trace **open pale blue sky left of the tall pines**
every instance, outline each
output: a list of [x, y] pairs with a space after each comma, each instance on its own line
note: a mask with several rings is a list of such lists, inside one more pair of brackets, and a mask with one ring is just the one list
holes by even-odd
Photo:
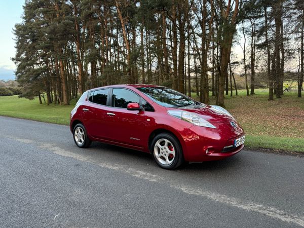
[[24, 0], [0, 0], [0, 80], [14, 80], [16, 66], [13, 28], [21, 22]]

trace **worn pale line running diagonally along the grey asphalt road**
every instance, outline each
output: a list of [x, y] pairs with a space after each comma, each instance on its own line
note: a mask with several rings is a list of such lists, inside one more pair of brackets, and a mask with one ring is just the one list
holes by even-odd
[[[4, 136], [4, 137], [8, 137], [8, 136]], [[16, 137], [8, 137], [8, 138], [15, 139], [15, 140], [17, 140], [19, 142], [23, 142], [23, 143], [37, 143], [40, 148], [47, 149], [54, 154], [57, 154], [57, 155], [60, 155], [63, 157], [73, 158], [78, 161], [89, 162], [89, 163], [98, 165], [103, 168], [117, 170], [117, 171], [127, 173], [134, 177], [138, 177], [138, 178], [145, 179], [148, 181], [155, 182], [155, 181], [164, 180], [162, 177], [160, 177], [158, 175], [144, 172], [141, 170], [137, 170], [134, 168], [129, 168], [128, 166], [123, 166], [123, 165], [118, 165], [118, 164], [109, 164], [109, 163], [100, 163], [100, 162], [97, 163], [96, 161], [91, 160], [91, 158], [89, 156], [75, 154], [72, 151], [68, 151], [68, 150], [63, 149], [54, 144], [38, 143], [38, 142], [33, 142], [32, 140], [29, 140], [29, 139], [20, 139], [20, 138], [16, 138]], [[225, 196], [223, 194], [217, 194], [217, 193], [213, 193], [213, 192], [209, 192], [209, 191], [204, 191], [203, 189], [200, 189], [200, 188], [183, 186], [180, 184], [171, 184], [170, 186], [175, 189], [178, 189], [188, 195], [195, 195], [195, 196], [199, 196], [199, 197], [208, 198], [210, 200], [213, 200], [213, 201], [216, 201], [219, 203], [223, 203], [223, 204], [226, 204], [229, 206], [241, 208], [241, 209], [244, 209], [247, 211], [258, 212], [258, 213], [267, 215], [271, 218], [280, 219], [285, 222], [295, 223], [295, 224], [304, 226], [304, 216], [293, 215], [293, 214], [290, 214], [289, 212], [282, 211], [282, 210], [279, 210], [274, 207], [268, 207], [268, 206], [264, 206], [262, 204], [256, 204], [254, 202], [249, 202], [249, 201], [245, 202], [245, 201], [242, 201], [237, 198]], [[55, 216], [55, 218], [56, 218], [56, 216]]]

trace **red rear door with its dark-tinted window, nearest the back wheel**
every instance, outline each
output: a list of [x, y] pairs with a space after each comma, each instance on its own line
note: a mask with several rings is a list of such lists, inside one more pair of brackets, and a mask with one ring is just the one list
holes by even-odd
[[106, 115], [109, 92], [109, 88], [92, 91], [82, 108], [82, 119], [88, 133], [94, 138], [109, 139]]

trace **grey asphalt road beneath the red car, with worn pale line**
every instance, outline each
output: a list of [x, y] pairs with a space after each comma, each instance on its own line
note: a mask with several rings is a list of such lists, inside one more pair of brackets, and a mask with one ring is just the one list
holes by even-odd
[[67, 126], [0, 117], [0, 227], [300, 227], [304, 159], [243, 150], [159, 168]]

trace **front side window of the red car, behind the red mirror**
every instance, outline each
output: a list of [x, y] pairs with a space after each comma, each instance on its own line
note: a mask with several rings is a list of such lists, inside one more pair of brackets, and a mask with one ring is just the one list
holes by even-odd
[[140, 97], [126, 89], [113, 89], [112, 105], [114, 107], [127, 108], [129, 103], [139, 103]]

